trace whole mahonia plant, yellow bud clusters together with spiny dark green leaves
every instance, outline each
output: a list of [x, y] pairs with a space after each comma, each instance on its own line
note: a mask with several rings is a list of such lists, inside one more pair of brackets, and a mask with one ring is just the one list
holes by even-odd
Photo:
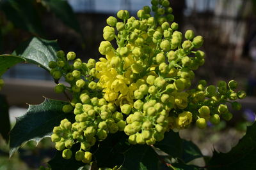
[[[36, 11], [22, 12], [34, 3], [26, 0], [26, 5], [20, 6], [20, 2], [8, 0], [3, 6], [12, 11], [5, 11], [12, 22], [17, 20], [14, 15], [22, 20], [35, 14], [17, 26], [41, 34], [36, 25], [31, 25], [38, 23], [33, 22]], [[67, 13], [71, 10], [67, 2], [45, 0], [42, 4], [79, 31], [76, 21], [68, 20]], [[68, 12], [56, 6], [63, 6]], [[204, 129], [208, 121], [218, 124], [220, 118], [230, 120], [232, 114], [225, 103], [232, 103], [232, 108], [240, 110], [241, 104], [235, 100], [243, 99], [246, 94], [235, 92], [234, 80], [219, 81], [216, 87], [201, 80], [195, 89], [191, 88], [193, 71], [204, 64], [204, 52], [195, 50], [204, 39], [189, 30], [182, 41], [169, 1], [153, 0], [152, 8], [145, 6], [137, 15], [138, 20], [121, 10], [117, 13], [121, 22], [115, 17], [107, 19], [103, 34], [106, 41], [99, 46], [104, 58], [99, 62], [93, 59], [82, 62], [76, 59], [76, 53], [65, 54], [60, 50], [56, 41], [36, 37], [24, 42], [12, 55], [0, 55], [0, 76], [19, 62], [36, 64], [51, 73], [57, 93], [72, 95], [68, 102], [45, 99], [41, 104], [29, 105], [27, 113], [17, 118], [10, 132], [10, 156], [28, 141], [38, 143], [51, 136], [58, 150], [49, 161], [51, 169], [204, 168], [189, 164], [204, 156], [195, 144], [181, 139], [174, 131], [193, 122]], [[113, 39], [116, 49], [110, 43]], [[60, 78], [65, 78], [69, 85], [59, 83]], [[2, 81], [0, 85], [3, 86]], [[4, 114], [1, 111], [0, 117], [5, 115], [8, 119], [7, 108], [1, 102]], [[8, 126], [4, 125], [7, 130], [0, 131], [5, 139]], [[237, 146], [229, 153], [214, 152], [205, 167], [252, 167], [254, 131], [255, 125], [248, 127]]]

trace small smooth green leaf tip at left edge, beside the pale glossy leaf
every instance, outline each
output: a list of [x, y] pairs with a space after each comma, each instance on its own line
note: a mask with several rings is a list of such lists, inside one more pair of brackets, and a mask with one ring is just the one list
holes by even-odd
[[10, 67], [15, 66], [20, 62], [25, 62], [25, 59], [15, 55], [0, 55], [0, 76], [3, 75]]

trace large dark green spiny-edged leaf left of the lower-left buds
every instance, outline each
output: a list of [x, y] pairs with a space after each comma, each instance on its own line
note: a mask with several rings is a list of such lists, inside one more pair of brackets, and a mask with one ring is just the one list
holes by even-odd
[[16, 124], [10, 132], [10, 157], [23, 143], [30, 140], [38, 143], [51, 136], [53, 127], [60, 125], [64, 118], [73, 121], [74, 115], [62, 111], [65, 104], [63, 101], [45, 98], [41, 104], [29, 105], [27, 113], [16, 118]]

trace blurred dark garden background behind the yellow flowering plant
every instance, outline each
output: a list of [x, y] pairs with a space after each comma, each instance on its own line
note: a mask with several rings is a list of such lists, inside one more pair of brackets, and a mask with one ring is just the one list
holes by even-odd
[[[210, 125], [203, 131], [191, 127], [180, 132], [182, 138], [198, 144], [204, 155], [211, 156], [213, 148], [228, 152], [244, 135], [246, 125], [255, 120], [256, 0], [170, 0], [170, 3], [179, 30], [192, 29], [205, 39], [202, 47], [207, 55], [205, 65], [195, 71], [195, 82], [205, 79], [216, 84], [218, 80], [237, 80], [239, 90], [248, 94], [241, 101], [243, 109], [232, 112], [234, 119], [228, 124]], [[136, 15], [145, 5], [150, 6], [150, 0], [2, 0], [0, 53], [12, 53], [22, 41], [40, 36], [57, 39], [61, 49], [76, 52], [84, 61], [99, 59], [98, 47], [103, 40], [106, 18], [116, 16], [118, 10], [129, 10]], [[65, 100], [65, 96], [54, 93], [51, 75], [39, 67], [17, 64], [3, 78], [6, 84], [0, 94], [7, 96], [12, 125], [15, 117], [26, 113], [26, 103], [42, 103], [42, 96]], [[49, 146], [52, 147], [49, 139], [38, 148], [33, 142], [28, 143], [14, 155], [15, 159], [9, 160], [8, 145], [0, 139], [0, 169], [16, 169], [16, 164], [36, 169], [54, 155]], [[202, 160], [198, 162], [204, 164]]]

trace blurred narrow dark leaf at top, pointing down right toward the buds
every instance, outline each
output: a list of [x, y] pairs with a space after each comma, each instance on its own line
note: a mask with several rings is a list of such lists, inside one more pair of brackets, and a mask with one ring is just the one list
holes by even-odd
[[62, 22], [77, 32], [81, 32], [79, 22], [76, 19], [76, 15], [72, 10], [71, 6], [67, 3], [67, 1], [63, 0], [43, 0], [46, 6], [50, 8], [50, 10], [55, 13], [55, 15], [62, 20]]

